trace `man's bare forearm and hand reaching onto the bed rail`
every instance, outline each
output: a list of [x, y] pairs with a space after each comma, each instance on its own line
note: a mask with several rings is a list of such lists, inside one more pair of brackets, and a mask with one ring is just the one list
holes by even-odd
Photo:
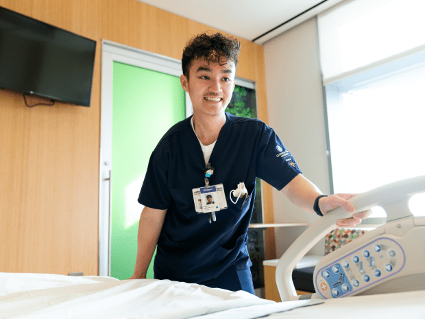
[[[303, 209], [304, 211], [311, 212], [313, 212], [313, 205], [317, 196], [322, 194], [320, 189], [302, 174], [295, 176], [295, 178], [293, 178], [293, 180], [291, 180], [291, 182], [282, 189], [282, 193], [284, 193], [285, 196], [287, 196], [287, 198], [295, 204], [295, 206], [300, 207], [300, 209]], [[355, 195], [356, 194], [334, 194], [328, 197], [322, 197], [319, 199], [320, 211], [325, 215], [328, 211], [332, 211], [332, 209], [336, 209], [341, 206], [345, 211], [353, 212], [356, 209], [350, 202], [348, 202], [348, 200]], [[339, 220], [337, 222], [337, 226], [356, 226], [369, 214], [369, 211], [356, 213], [352, 218]]]

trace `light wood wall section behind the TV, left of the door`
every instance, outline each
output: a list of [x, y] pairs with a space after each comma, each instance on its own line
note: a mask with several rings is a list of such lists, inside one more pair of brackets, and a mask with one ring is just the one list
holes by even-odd
[[[93, 40], [100, 39], [100, 4], [0, 0]], [[21, 93], [0, 91], [1, 272], [97, 274], [100, 49], [90, 108], [27, 108]]]

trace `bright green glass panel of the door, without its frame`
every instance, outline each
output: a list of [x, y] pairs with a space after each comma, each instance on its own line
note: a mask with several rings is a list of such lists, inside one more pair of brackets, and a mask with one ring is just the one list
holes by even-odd
[[[186, 117], [180, 78], [121, 62], [113, 64], [111, 276], [127, 279], [136, 263], [138, 204], [151, 152]], [[153, 260], [153, 259], [152, 259]], [[147, 278], [154, 278], [153, 262]]]

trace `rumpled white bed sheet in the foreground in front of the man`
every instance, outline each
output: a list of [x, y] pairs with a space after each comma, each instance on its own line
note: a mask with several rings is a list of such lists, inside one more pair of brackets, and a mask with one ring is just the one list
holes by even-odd
[[258, 318], [322, 303], [274, 303], [203, 285], [104, 276], [0, 273], [0, 318]]

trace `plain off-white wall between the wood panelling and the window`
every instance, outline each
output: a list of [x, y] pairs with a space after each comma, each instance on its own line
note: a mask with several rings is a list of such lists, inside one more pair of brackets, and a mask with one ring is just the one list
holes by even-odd
[[[316, 18], [265, 43], [269, 126], [276, 130], [304, 176], [322, 192], [330, 192], [324, 104]], [[313, 223], [319, 218], [294, 206], [274, 189], [274, 219]], [[276, 253], [281, 257], [306, 227], [276, 228]], [[308, 255], [324, 255], [324, 240]]]

